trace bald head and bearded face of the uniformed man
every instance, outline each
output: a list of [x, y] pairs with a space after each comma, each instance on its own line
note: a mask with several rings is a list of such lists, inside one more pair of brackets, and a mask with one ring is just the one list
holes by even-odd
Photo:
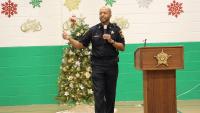
[[101, 8], [99, 11], [99, 19], [101, 23], [106, 23], [110, 21], [111, 11], [107, 8]]

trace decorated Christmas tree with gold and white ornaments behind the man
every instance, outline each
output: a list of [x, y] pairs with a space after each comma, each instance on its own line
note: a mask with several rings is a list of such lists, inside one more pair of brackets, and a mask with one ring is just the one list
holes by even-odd
[[[85, 24], [84, 18], [72, 16], [64, 23], [64, 30], [76, 40], [82, 38], [88, 29], [89, 26]], [[93, 103], [90, 47], [76, 49], [69, 44], [64, 49], [57, 95], [57, 100], [61, 104]]]

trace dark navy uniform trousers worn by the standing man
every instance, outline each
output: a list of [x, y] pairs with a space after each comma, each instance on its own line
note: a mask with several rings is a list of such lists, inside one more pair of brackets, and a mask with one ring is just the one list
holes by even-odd
[[114, 113], [118, 65], [92, 66], [95, 113]]

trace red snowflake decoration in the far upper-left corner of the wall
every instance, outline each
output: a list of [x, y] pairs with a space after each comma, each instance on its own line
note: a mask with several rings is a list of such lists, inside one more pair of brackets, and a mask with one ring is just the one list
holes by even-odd
[[17, 4], [8, 0], [8, 2], [2, 3], [2, 11], [1, 14], [8, 15], [10, 18], [12, 15], [17, 14]]

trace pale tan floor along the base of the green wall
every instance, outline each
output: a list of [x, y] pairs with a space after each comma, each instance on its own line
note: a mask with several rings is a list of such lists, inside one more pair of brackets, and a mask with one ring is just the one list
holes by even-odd
[[[178, 113], [200, 113], [200, 100], [178, 100]], [[94, 106], [44, 104], [27, 106], [0, 106], [0, 113], [94, 113]], [[144, 113], [141, 101], [117, 102], [115, 113]]]

